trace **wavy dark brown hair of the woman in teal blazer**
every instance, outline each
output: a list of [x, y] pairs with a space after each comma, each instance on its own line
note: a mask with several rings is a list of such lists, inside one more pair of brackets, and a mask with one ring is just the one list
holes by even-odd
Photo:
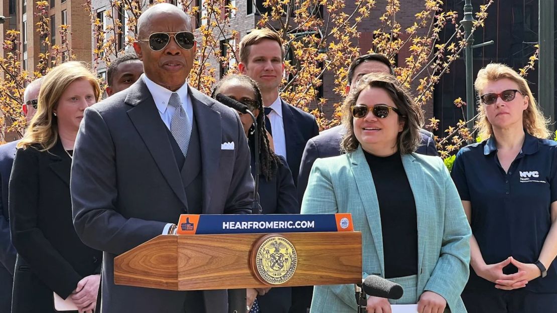
[[399, 118], [404, 121], [404, 128], [398, 133], [397, 147], [400, 154], [408, 154], [416, 151], [420, 143], [419, 129], [423, 124], [423, 112], [410, 96], [409, 92], [397, 81], [393, 75], [384, 73], [370, 73], [363, 76], [354, 89], [344, 99], [343, 124], [348, 130], [341, 141], [342, 148], [346, 153], [355, 151], [360, 144], [354, 135], [354, 117], [352, 107], [360, 96], [360, 92], [370, 88], [381, 88], [387, 91], [390, 99], [397, 105], [400, 111]]

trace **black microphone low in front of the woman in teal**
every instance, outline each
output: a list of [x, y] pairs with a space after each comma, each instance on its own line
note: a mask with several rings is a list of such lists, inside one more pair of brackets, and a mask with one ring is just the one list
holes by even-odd
[[361, 286], [359, 284], [355, 285], [356, 304], [358, 304], [359, 313], [366, 312], [368, 301], [365, 295], [397, 300], [403, 294], [404, 290], [398, 283], [375, 275], [366, 277]]

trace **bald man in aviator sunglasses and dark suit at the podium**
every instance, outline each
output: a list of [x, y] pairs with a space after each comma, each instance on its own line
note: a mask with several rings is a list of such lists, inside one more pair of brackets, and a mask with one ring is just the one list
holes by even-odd
[[114, 284], [114, 257], [162, 233], [179, 214], [250, 213], [253, 178], [238, 114], [185, 82], [196, 41], [191, 19], [156, 4], [138, 19], [144, 75], [85, 110], [72, 164], [74, 225], [104, 251], [103, 313], [227, 312], [227, 291]]

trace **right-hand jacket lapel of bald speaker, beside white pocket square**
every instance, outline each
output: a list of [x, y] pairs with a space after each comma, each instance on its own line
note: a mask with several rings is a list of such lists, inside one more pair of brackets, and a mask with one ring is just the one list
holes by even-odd
[[193, 115], [196, 118], [199, 131], [199, 142], [201, 143], [201, 168], [203, 174], [203, 210], [208, 214], [211, 208], [211, 182], [218, 179], [217, 169], [221, 156], [222, 125], [221, 114], [211, 109], [213, 101], [202, 102], [206, 98], [198, 90], [189, 87], [190, 99], [192, 99]]

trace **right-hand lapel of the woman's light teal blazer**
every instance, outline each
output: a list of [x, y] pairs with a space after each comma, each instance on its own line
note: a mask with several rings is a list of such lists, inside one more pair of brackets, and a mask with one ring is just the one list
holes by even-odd
[[422, 165], [417, 162], [416, 158], [412, 154], [402, 155], [402, 165], [406, 176], [408, 177], [408, 182], [410, 183], [410, 188], [414, 195], [414, 202], [416, 203], [416, 218], [417, 218], [417, 229], [418, 229], [418, 280], [421, 273], [422, 261], [424, 251], [426, 249], [427, 242], [427, 232], [429, 227], [436, 227], [436, 225], [430, 225], [427, 221], [426, 210], [434, 206], [431, 201], [431, 197], [428, 197], [427, 192], [427, 182], [426, 177], [423, 172]]

